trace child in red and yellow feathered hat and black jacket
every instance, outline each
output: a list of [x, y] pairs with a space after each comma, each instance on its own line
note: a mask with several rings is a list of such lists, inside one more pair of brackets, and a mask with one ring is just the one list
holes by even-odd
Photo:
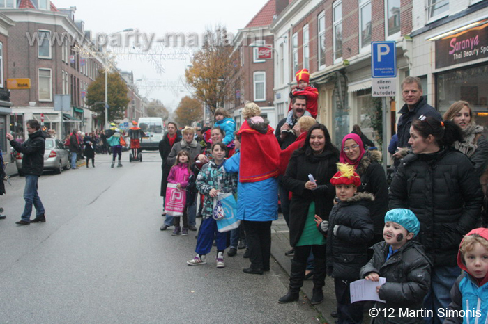
[[359, 279], [359, 270], [368, 261], [367, 243], [374, 233], [368, 205], [374, 195], [356, 193], [361, 180], [352, 165], [337, 163], [337, 170], [330, 179], [337, 204], [328, 221], [319, 216], [315, 221], [327, 236], [327, 273], [334, 278], [338, 322], [362, 323], [363, 302], [351, 304], [349, 284]]

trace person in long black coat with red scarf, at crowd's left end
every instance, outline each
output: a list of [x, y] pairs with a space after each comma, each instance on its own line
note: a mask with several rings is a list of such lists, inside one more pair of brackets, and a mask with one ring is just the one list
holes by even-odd
[[[173, 148], [173, 145], [178, 143], [181, 140], [181, 132], [178, 131], [178, 127], [176, 126], [176, 123], [174, 122], [168, 122], [167, 125], [167, 132], [165, 133], [165, 136], [162, 137], [162, 140], [160, 140], [159, 143], [159, 154], [162, 159], [162, 178], [161, 178], [161, 197], [162, 197], [162, 216], [166, 216], [166, 213], [164, 211], [165, 208], [165, 197], [166, 197], [166, 187], [168, 185], [168, 175], [169, 175], [169, 170], [171, 170], [171, 166], [166, 162], [166, 159], [169, 155], [169, 152], [171, 152], [171, 148]], [[165, 223], [160, 227], [160, 230], [165, 231], [168, 227], [173, 225], [173, 216], [166, 216]]]

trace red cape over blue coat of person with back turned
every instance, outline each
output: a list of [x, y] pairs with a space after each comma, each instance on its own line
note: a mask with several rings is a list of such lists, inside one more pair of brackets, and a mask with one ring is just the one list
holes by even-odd
[[265, 134], [259, 133], [245, 120], [238, 133], [241, 134], [239, 181], [258, 182], [277, 177], [281, 149], [274, 129], [268, 125]]

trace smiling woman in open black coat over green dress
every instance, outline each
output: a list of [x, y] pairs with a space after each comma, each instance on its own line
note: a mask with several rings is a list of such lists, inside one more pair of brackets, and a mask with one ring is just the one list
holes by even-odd
[[[337, 161], [339, 151], [332, 144], [323, 124], [312, 126], [303, 147], [291, 156], [283, 177], [283, 187], [293, 193], [289, 229], [290, 245], [295, 249], [295, 254], [291, 260], [289, 291], [280, 298], [280, 303], [298, 300], [311, 250], [314, 254], [314, 293], [311, 301], [312, 304], [318, 304], [323, 300], [326, 241], [315, 225], [314, 215], [328, 220], [335, 196], [335, 188], [329, 180], [335, 174]], [[315, 181], [310, 181], [309, 175]]]

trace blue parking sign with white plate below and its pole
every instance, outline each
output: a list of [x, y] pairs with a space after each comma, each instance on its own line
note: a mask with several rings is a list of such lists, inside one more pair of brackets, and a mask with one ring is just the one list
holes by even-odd
[[388, 139], [386, 121], [388, 118], [386, 97], [397, 95], [397, 44], [392, 42], [371, 42], [372, 97], [381, 97], [383, 124], [383, 169], [388, 165]]

